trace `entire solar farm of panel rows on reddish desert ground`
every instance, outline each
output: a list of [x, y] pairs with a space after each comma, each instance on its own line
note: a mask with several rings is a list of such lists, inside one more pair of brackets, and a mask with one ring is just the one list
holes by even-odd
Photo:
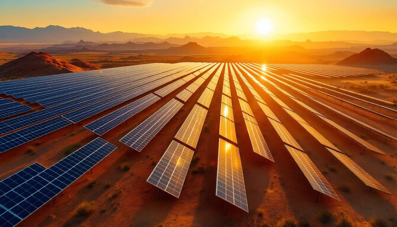
[[397, 217], [397, 108], [330, 82], [383, 73], [182, 62], [1, 81], [0, 227]]

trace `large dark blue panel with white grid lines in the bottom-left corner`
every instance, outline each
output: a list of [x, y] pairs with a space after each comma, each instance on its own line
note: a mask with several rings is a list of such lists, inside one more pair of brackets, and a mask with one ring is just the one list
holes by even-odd
[[[117, 147], [96, 138], [50, 168], [41, 171], [0, 197], [0, 227], [14, 226], [94, 167]], [[30, 172], [31, 174], [33, 172]], [[3, 181], [4, 182], [4, 181]], [[6, 181], [7, 184], [9, 181]]]

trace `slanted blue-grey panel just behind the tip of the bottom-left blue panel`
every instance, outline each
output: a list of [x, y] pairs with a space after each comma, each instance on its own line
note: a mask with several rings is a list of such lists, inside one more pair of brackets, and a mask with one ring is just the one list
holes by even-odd
[[94, 132], [100, 136], [111, 130], [112, 128], [118, 126], [128, 118], [134, 116], [135, 114], [143, 111], [145, 108], [149, 107], [156, 101], [160, 100], [160, 97], [152, 93], [134, 101], [120, 109], [113, 111], [106, 116], [103, 116], [93, 122], [84, 126], [91, 132]]

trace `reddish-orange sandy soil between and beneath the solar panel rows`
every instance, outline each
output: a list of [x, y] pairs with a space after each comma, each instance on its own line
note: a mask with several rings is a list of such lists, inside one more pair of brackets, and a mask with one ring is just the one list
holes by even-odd
[[[351, 158], [389, 189], [392, 195], [389, 196], [374, 190], [369, 192], [368, 188], [355, 175], [335, 160], [332, 166], [335, 167], [336, 172], [331, 172], [330, 153], [305, 132], [297, 122], [289, 118], [281, 107], [270, 99], [265, 92], [261, 91], [257, 85], [252, 84], [293, 137], [308, 153], [318, 169], [323, 171], [325, 177], [341, 198], [341, 202], [338, 202], [327, 196], [322, 196], [320, 201], [316, 203], [317, 193], [312, 190], [302, 174], [298, 178], [299, 169], [295, 161], [283, 148], [281, 139], [279, 139], [276, 131], [272, 128], [272, 125], [242, 81], [241, 85], [249, 99], [252, 111], [276, 163], [262, 158], [260, 165], [258, 165], [258, 155], [252, 151], [241, 109], [236, 99], [234, 85], [231, 83], [233, 114], [243, 166], [249, 213], [228, 204], [225, 215], [224, 200], [215, 196], [223, 76], [218, 81], [217, 89], [193, 156], [193, 159], [198, 157], [199, 160], [191, 164], [179, 199], [161, 191], [160, 200], [158, 200], [156, 188], [147, 183], [146, 179], [210, 79], [211, 77], [203, 83], [143, 151], [131, 153], [130, 159], [127, 147], [118, 140], [175, 97], [189, 83], [152, 105], [148, 111], [137, 114], [127, 120], [126, 123], [120, 124], [104, 134], [102, 138], [118, 146], [118, 149], [98, 163], [94, 167], [92, 174], [89, 172], [83, 175], [56, 196], [54, 202], [50, 201], [45, 204], [33, 215], [22, 221], [19, 226], [262, 226], [265, 223], [275, 226], [280, 219], [294, 216], [308, 220], [311, 226], [321, 227], [334, 226], [337, 219], [341, 216], [340, 213], [344, 213], [355, 223], [355, 226], [369, 227], [369, 220], [373, 215], [387, 220], [389, 224], [391, 224], [391, 221], [388, 221], [388, 219], [397, 217], [397, 182], [385, 179], [386, 174], [397, 174], [397, 143], [388, 141], [384, 144], [384, 138], [381, 136], [365, 130], [361, 132], [361, 127], [349, 124], [349, 121], [341, 116], [325, 111], [320, 105], [309, 101], [293, 89], [278, 84], [286, 91], [299, 97], [304, 103], [320, 111], [320, 113], [347, 127], [353, 133], [365, 134], [368, 136], [368, 142], [382, 149], [387, 155], [379, 155], [370, 151], [362, 152], [360, 145], [351, 144], [351, 140], [343, 134], [335, 132], [329, 126], [324, 127], [324, 124], [318, 118], [299, 106], [295, 106], [283, 93], [278, 92], [270, 84], [265, 83], [273, 93], [278, 95], [282, 101], [299, 113], [339, 149], [349, 152]], [[230, 78], [230, 81], [233, 80]], [[328, 82], [335, 83], [335, 81]], [[143, 95], [127, 103], [135, 101]], [[322, 96], [318, 96], [318, 99], [364, 122], [368, 122], [372, 126], [385, 130], [389, 134], [397, 136], [395, 125], [385, 124], [385, 122], [379, 120], [378, 116], [368, 113], [365, 115], [361, 112], [357, 113], [357, 111], [347, 105], [341, 107], [331, 99], [326, 99]], [[74, 144], [83, 146], [92, 140], [91, 132], [83, 128], [85, 124], [127, 103], [85, 119], [74, 125], [73, 128], [68, 126], [48, 136], [0, 154], [0, 179], [12, 175], [35, 161], [46, 167], [56, 163], [66, 156], [65, 152], [68, 146]], [[35, 151], [27, 153], [28, 146], [33, 146]], [[129, 163], [131, 169], [121, 171], [120, 165], [125, 162]], [[204, 167], [204, 173], [193, 174], [192, 171], [198, 167]], [[88, 184], [92, 180], [96, 180], [96, 184], [89, 188]], [[351, 192], [347, 193], [340, 190], [343, 186], [349, 187]], [[91, 215], [77, 217], [74, 210], [83, 200], [92, 201], [94, 203], [94, 211]], [[333, 223], [323, 225], [318, 221], [318, 215], [324, 211], [330, 211], [334, 214]]]

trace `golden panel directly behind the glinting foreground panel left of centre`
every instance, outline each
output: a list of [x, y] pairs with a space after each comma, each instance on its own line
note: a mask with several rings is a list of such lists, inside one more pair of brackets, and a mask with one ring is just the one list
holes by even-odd
[[196, 148], [207, 112], [206, 109], [196, 104], [187, 116], [185, 122], [183, 122], [181, 128], [179, 128], [175, 138]]

